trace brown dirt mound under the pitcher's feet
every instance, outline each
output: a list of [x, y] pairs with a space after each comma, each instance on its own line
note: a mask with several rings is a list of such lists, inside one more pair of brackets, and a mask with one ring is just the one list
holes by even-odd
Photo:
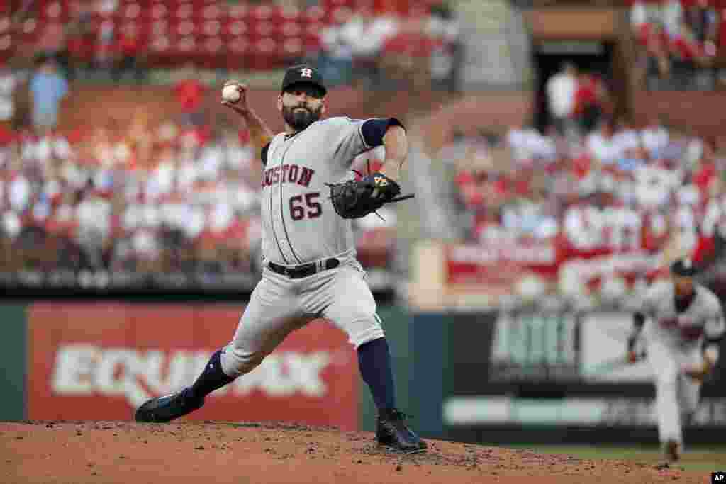
[[0, 422], [0, 482], [703, 483], [632, 462], [428, 442], [428, 453], [403, 456], [371, 432], [296, 424]]

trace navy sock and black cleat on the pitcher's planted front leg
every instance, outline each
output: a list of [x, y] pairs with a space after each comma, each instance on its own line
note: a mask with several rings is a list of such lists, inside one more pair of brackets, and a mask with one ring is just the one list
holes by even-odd
[[396, 387], [393, 385], [391, 353], [386, 338], [360, 345], [358, 365], [378, 407], [375, 430], [378, 443], [393, 451], [425, 451], [426, 443], [407, 427], [405, 415], [396, 409]]

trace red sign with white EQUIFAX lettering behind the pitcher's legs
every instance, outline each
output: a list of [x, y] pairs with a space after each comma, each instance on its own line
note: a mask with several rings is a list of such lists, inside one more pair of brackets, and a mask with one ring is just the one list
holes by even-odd
[[[29, 312], [28, 418], [131, 419], [148, 398], [194, 382], [213, 351], [234, 335], [242, 309], [34, 305]], [[345, 333], [314, 321], [184, 418], [356, 430], [356, 361]]]

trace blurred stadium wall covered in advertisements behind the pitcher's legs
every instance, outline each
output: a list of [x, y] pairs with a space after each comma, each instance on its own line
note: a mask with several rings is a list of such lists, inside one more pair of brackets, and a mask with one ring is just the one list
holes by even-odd
[[[34, 303], [0, 306], [0, 419], [131, 419], [189, 385], [227, 343], [243, 306]], [[655, 443], [647, 364], [624, 352], [618, 311], [407, 313], [379, 309], [399, 406], [425, 437], [478, 443]], [[726, 354], [726, 348], [723, 348]], [[726, 358], [703, 387], [689, 443], [722, 442]], [[293, 333], [255, 372], [187, 417], [374, 430], [375, 407], [346, 335], [327, 321]]]

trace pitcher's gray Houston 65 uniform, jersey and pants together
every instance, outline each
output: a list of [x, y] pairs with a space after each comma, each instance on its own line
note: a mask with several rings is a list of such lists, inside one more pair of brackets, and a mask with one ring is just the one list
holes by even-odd
[[254, 369], [308, 321], [325, 318], [354, 346], [383, 337], [375, 299], [356, 261], [351, 221], [338, 216], [326, 183], [351, 175], [351, 163], [370, 149], [364, 120], [329, 118], [292, 136], [274, 136], [262, 179], [262, 250], [266, 262], [299, 266], [331, 257], [340, 265], [291, 279], [267, 266], [221, 356], [224, 372]]

